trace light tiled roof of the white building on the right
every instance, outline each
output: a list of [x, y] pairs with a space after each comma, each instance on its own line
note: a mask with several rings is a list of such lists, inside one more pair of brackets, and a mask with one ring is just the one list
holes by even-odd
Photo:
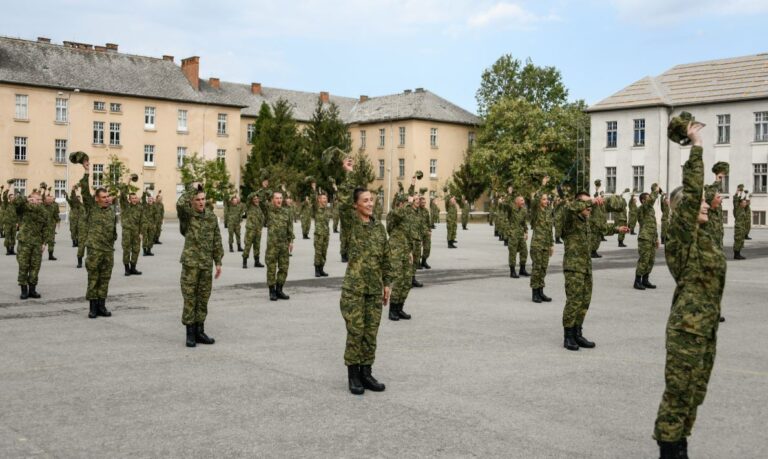
[[587, 111], [764, 98], [768, 98], [768, 53], [678, 65], [632, 83]]

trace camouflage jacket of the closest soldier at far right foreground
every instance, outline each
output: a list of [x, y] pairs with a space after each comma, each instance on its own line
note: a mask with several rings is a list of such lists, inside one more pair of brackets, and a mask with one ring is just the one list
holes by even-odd
[[664, 255], [677, 287], [667, 327], [714, 337], [725, 286], [725, 255], [710, 225], [697, 223], [704, 190], [703, 149], [692, 147], [683, 166], [683, 197], [670, 222]]

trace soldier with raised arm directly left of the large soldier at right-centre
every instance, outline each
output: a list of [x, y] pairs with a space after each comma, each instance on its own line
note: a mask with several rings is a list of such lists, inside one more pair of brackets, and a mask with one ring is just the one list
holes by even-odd
[[542, 301], [552, 301], [552, 298], [544, 294], [544, 277], [547, 275], [549, 259], [554, 254], [552, 239], [552, 211], [549, 206], [549, 195], [545, 187], [549, 182], [549, 177], [544, 177], [541, 182], [541, 188], [533, 197], [531, 206], [531, 228], [533, 237], [531, 238], [531, 261], [533, 269], [531, 270], [531, 299], [534, 303]]

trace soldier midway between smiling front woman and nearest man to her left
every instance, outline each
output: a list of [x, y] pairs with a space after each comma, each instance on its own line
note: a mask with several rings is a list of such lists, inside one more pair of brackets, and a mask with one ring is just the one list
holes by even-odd
[[287, 300], [283, 285], [288, 278], [289, 254], [293, 251], [293, 219], [289, 209], [283, 207], [283, 192], [272, 193], [272, 204], [267, 213], [267, 285], [271, 301]]

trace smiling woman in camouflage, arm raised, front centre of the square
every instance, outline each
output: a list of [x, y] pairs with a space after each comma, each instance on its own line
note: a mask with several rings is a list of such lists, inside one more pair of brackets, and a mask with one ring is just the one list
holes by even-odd
[[354, 188], [352, 160], [343, 163], [347, 179], [339, 189], [342, 213], [347, 213], [349, 261], [341, 291], [341, 315], [347, 325], [347, 365], [349, 391], [360, 395], [365, 389], [383, 391], [373, 377], [371, 365], [376, 355], [376, 335], [381, 308], [389, 301], [391, 269], [389, 244], [384, 225], [373, 217], [373, 196], [364, 188]]

